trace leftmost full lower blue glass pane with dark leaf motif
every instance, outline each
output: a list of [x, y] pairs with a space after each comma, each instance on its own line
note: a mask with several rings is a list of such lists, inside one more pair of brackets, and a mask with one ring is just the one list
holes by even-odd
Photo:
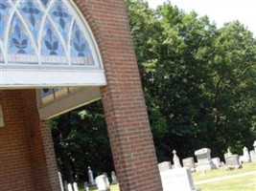
[[25, 32], [24, 27], [17, 15], [14, 15], [12, 19], [12, 29], [9, 41], [10, 53], [35, 53], [27, 32]]

